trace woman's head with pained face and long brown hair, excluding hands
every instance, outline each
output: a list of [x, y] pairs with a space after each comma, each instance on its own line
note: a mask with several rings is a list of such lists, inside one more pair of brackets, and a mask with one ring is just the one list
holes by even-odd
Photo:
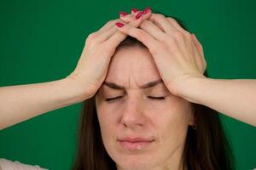
[[218, 113], [171, 94], [135, 38], [119, 44], [82, 111], [73, 169], [233, 169]]

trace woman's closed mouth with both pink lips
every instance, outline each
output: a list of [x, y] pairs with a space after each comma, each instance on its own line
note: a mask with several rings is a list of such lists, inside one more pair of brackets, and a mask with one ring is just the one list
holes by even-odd
[[154, 142], [154, 139], [127, 137], [123, 139], [118, 139], [118, 142], [123, 149], [132, 151], [148, 148]]

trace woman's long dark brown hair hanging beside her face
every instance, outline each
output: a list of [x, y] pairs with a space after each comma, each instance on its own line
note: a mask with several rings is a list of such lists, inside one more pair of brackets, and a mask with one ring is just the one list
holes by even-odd
[[[188, 31], [181, 20], [173, 16], [172, 18]], [[133, 37], [126, 37], [118, 48], [134, 45], [145, 48], [142, 42]], [[207, 71], [204, 75], [207, 77]], [[108, 156], [102, 143], [95, 97], [86, 99], [82, 106], [77, 156], [73, 170], [116, 170], [115, 162]], [[189, 170], [235, 169], [233, 154], [224, 135], [218, 112], [205, 105], [192, 104], [192, 107], [195, 109], [197, 127], [188, 128], [183, 150], [184, 165]]]

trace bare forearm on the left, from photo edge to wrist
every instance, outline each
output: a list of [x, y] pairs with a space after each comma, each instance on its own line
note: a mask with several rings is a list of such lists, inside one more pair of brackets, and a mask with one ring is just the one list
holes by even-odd
[[86, 99], [73, 79], [0, 88], [0, 129]]

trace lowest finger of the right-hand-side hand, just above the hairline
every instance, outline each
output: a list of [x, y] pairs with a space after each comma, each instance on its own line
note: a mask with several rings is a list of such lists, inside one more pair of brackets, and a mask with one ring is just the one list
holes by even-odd
[[148, 47], [149, 51], [154, 54], [154, 48], [156, 48], [155, 44], [158, 44], [158, 41], [154, 39], [154, 37], [152, 37], [147, 31], [130, 26], [129, 24], [117, 28], [120, 32], [131, 37], [135, 37], [138, 41], [143, 42], [143, 44]]

